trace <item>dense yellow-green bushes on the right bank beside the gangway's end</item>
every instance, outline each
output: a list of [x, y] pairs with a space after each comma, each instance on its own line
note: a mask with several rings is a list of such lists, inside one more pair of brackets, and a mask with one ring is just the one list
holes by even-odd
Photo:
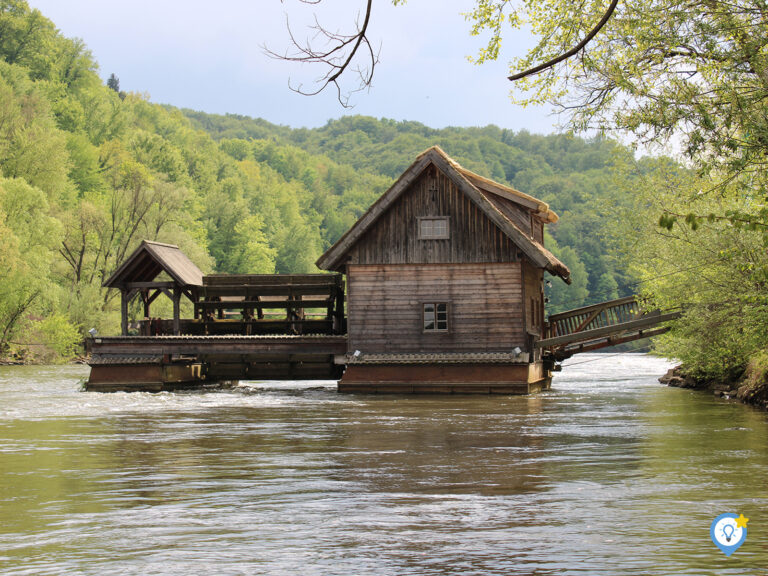
[[[739, 377], [768, 344], [762, 231], [719, 218], [702, 219], [694, 230], [677, 216], [744, 210], [747, 201], [736, 185], [723, 194], [699, 194], [701, 177], [668, 161], [647, 160], [623, 176], [619, 185], [633, 191], [634, 205], [616, 223], [617, 250], [650, 305], [683, 313], [657, 350], [694, 376]], [[670, 216], [661, 226], [660, 212]]]

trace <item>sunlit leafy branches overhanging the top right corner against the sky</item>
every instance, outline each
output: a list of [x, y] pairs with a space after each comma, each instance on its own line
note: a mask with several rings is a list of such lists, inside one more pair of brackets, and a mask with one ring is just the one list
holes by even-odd
[[[551, 60], [584, 37], [604, 3], [531, 0], [522, 7], [480, 0], [475, 33], [491, 32], [476, 61], [498, 56], [504, 22], [530, 21], [540, 42], [513, 71]], [[764, 0], [626, 0], [578, 54], [520, 86], [527, 103], [550, 103], [575, 130], [618, 129], [645, 144], [676, 138], [682, 153], [719, 186], [757, 178], [768, 148], [768, 5]], [[765, 212], [752, 216], [765, 222]]]

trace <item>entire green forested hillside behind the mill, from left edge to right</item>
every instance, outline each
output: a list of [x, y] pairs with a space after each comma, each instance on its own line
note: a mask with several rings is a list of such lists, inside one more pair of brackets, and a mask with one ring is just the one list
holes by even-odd
[[117, 299], [101, 284], [144, 238], [178, 244], [204, 271], [314, 271], [434, 144], [559, 212], [549, 247], [575, 282], [553, 282], [555, 309], [628, 282], [600, 215], [623, 202], [612, 162], [632, 162], [611, 142], [364, 117], [293, 130], [182, 113], [122, 92], [117, 77], [105, 85], [84, 44], [23, 0], [0, 0], [0, 31], [0, 356], [33, 342], [66, 356], [91, 327], [117, 331]]

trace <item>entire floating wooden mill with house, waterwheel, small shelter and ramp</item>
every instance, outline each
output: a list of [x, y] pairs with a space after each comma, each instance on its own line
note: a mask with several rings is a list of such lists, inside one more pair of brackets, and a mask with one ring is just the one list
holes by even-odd
[[[433, 147], [320, 257], [330, 274], [206, 276], [177, 247], [143, 242], [105, 284], [121, 291], [123, 335], [94, 338], [87, 388], [340, 377], [342, 392], [524, 394], [564, 358], [668, 329], [651, 328], [677, 313], [644, 313], [632, 296], [545, 320], [544, 273], [570, 283], [544, 247], [553, 222], [544, 202]], [[172, 320], [149, 317], [161, 294]]]

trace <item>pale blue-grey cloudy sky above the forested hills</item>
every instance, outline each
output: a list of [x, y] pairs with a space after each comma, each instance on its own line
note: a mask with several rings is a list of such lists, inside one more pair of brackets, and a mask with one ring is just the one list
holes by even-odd
[[322, 74], [269, 58], [290, 47], [286, 18], [299, 38], [313, 13], [329, 29], [353, 30], [364, 0], [28, 0], [68, 37], [85, 41], [106, 79], [153, 102], [209, 113], [242, 114], [292, 127], [317, 127], [346, 114], [412, 120], [434, 128], [495, 124], [515, 131], [556, 131], [547, 108], [509, 98], [508, 61], [533, 40], [509, 32], [498, 62], [467, 61], [483, 45], [461, 15], [470, 0], [374, 4], [370, 34], [379, 51], [373, 86], [344, 109], [332, 90], [307, 97], [289, 88]]

